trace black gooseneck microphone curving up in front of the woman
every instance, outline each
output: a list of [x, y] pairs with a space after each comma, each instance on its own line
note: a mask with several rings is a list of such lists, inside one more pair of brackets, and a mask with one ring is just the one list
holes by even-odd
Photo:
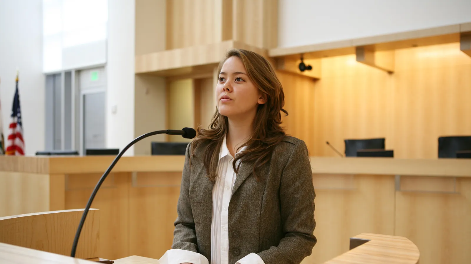
[[85, 207], [85, 210], [83, 211], [82, 218], [80, 220], [80, 224], [77, 227], [77, 233], [75, 233], [75, 238], [73, 239], [73, 244], [72, 244], [72, 252], [70, 253], [70, 256], [75, 257], [75, 251], [77, 250], [77, 244], [79, 242], [79, 237], [80, 233], [83, 228], [83, 224], [85, 223], [85, 218], [87, 217], [88, 211], [90, 210], [91, 203], [93, 202], [93, 199], [95, 199], [95, 195], [97, 195], [98, 189], [100, 188], [101, 184], [105, 181], [106, 176], [110, 173], [110, 171], [114, 168], [114, 165], [118, 162], [118, 160], [121, 158], [121, 156], [130, 148], [132, 145], [136, 144], [136, 142], [143, 140], [147, 137], [153, 136], [153, 135], [158, 135], [158, 134], [168, 134], [168, 135], [179, 135], [182, 136], [186, 139], [193, 139], [196, 136], [196, 131], [193, 128], [185, 127], [182, 130], [159, 130], [159, 131], [154, 131], [154, 132], [149, 132], [144, 135], [139, 136], [138, 138], [132, 140], [125, 148], [122, 149], [122, 151], [114, 158], [113, 163], [108, 167], [108, 169], [105, 171], [103, 176], [98, 180], [97, 185], [95, 186], [95, 189], [93, 189], [93, 192], [90, 195], [89, 201], [87, 202], [87, 206]]

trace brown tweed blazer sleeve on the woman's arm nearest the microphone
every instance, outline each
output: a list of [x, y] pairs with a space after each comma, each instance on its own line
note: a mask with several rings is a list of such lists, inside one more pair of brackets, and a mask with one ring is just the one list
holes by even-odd
[[180, 186], [180, 196], [177, 204], [177, 219], [175, 220], [175, 229], [173, 231], [172, 249], [184, 249], [198, 252], [195, 232], [195, 221], [191, 210], [189, 197], [190, 188], [190, 144], [185, 153], [185, 165]]

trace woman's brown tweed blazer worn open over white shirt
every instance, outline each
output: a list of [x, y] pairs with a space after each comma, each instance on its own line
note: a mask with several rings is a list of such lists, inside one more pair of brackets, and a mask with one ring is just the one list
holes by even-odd
[[[203, 165], [202, 148], [186, 151], [178, 217], [172, 249], [198, 252], [211, 261], [212, 188]], [[308, 149], [304, 141], [285, 136], [270, 162], [252, 175], [253, 163], [242, 162], [228, 208], [229, 264], [258, 254], [265, 264], [299, 264], [311, 255], [314, 198]]]

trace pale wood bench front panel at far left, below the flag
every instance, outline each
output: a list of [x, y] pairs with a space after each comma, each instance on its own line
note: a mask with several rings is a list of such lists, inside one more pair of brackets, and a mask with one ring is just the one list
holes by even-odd
[[0, 205], [0, 217], [49, 211], [49, 175], [1, 171]]

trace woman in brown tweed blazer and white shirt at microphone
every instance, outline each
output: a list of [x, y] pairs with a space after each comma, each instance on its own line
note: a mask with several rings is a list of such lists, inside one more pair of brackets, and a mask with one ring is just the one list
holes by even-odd
[[[169, 264], [298, 264], [311, 254], [314, 188], [306, 144], [281, 125], [269, 62], [231, 50], [210, 129], [187, 148]], [[234, 157], [234, 158], [233, 158]]]

